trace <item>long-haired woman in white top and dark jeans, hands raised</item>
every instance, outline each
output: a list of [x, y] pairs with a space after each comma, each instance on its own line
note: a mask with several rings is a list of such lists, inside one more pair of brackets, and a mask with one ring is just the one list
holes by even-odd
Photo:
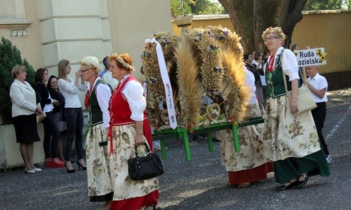
[[65, 144], [65, 168], [67, 172], [75, 172], [71, 163], [71, 150], [73, 139], [75, 138], [75, 147], [77, 150], [77, 165], [83, 170], [86, 170], [86, 164], [84, 162], [83, 155], [83, 110], [81, 109], [81, 102], [77, 96], [77, 91], [86, 91], [85, 81], [81, 79], [79, 84], [79, 78], [81, 78], [81, 72], [75, 73], [75, 80], [71, 79], [70, 74], [71, 67], [70, 61], [60, 60], [59, 62], [59, 89], [65, 97], [65, 119], [67, 124], [68, 137]]

